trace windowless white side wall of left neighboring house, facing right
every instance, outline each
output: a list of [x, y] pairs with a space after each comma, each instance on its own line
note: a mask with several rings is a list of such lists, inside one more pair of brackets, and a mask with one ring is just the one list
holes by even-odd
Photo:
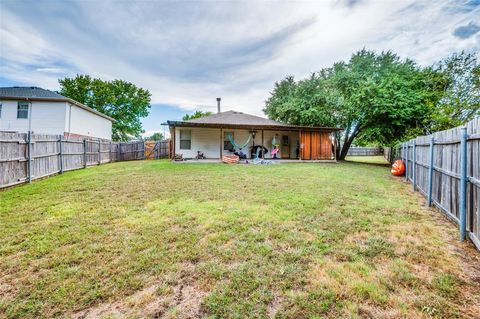
[[112, 122], [95, 113], [68, 103], [65, 116], [67, 133], [112, 139]]

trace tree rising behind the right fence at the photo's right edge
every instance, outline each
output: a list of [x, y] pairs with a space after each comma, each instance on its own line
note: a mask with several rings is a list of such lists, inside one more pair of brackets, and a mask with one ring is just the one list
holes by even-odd
[[431, 131], [465, 124], [480, 116], [480, 64], [473, 53], [455, 53], [434, 68], [445, 78], [444, 95], [432, 115]]

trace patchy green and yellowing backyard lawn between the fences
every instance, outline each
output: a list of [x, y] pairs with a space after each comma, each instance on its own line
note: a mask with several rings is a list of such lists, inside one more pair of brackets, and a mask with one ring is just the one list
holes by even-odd
[[107, 164], [0, 227], [0, 317], [480, 317], [480, 253], [378, 164]]

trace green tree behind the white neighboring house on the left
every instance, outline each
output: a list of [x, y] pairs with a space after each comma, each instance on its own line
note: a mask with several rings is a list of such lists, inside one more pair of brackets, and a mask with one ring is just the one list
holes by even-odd
[[148, 90], [122, 80], [103, 81], [78, 74], [58, 82], [60, 94], [115, 119], [113, 140], [126, 140], [128, 135], [139, 137], [143, 132], [140, 119], [148, 115], [150, 108]]

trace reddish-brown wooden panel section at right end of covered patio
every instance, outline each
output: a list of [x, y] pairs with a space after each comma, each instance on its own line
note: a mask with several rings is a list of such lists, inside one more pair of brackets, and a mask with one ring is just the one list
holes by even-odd
[[333, 159], [332, 140], [328, 132], [301, 132], [300, 143], [302, 160]]

